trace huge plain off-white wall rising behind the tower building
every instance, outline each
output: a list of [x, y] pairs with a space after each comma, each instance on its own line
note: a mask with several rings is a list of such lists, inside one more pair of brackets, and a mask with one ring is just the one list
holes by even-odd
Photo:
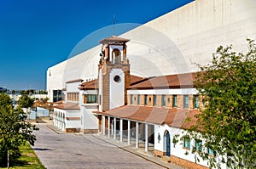
[[[256, 38], [254, 0], [195, 0], [181, 8], [128, 31], [131, 74], [160, 76], [197, 70], [219, 45], [233, 44], [246, 51], [246, 38]], [[47, 71], [47, 91], [62, 89], [73, 79], [95, 79], [101, 46], [67, 59]], [[49, 73], [50, 72], [50, 73]], [[51, 76], [49, 76], [51, 74]]]

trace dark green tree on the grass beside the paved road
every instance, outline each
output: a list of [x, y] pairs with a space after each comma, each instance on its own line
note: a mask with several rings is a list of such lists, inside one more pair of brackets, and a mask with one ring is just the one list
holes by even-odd
[[9, 102], [9, 96], [0, 95], [0, 161], [1, 165], [6, 165], [8, 152], [10, 159], [20, 155], [20, 144], [28, 141], [34, 144], [36, 137], [33, 130], [38, 130], [34, 125], [27, 123], [26, 114], [20, 109], [13, 109]]

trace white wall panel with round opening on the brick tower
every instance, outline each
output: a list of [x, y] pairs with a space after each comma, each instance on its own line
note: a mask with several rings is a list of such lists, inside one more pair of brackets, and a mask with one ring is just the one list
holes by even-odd
[[[120, 76], [120, 82], [114, 82], [113, 77]], [[109, 109], [125, 104], [125, 73], [121, 69], [113, 69], [109, 75]]]

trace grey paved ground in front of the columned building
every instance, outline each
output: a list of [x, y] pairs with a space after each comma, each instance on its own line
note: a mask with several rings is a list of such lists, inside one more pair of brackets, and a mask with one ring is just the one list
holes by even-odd
[[89, 134], [58, 133], [47, 124], [32, 149], [51, 168], [165, 168]]

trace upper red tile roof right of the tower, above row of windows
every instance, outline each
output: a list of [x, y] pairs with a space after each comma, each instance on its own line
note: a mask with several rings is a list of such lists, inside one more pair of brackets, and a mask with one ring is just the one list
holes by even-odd
[[153, 88], [183, 88], [194, 87], [193, 80], [195, 80], [196, 73], [185, 73], [178, 75], [156, 76], [148, 78], [144, 82], [137, 83], [128, 87], [137, 89], [153, 89]]

